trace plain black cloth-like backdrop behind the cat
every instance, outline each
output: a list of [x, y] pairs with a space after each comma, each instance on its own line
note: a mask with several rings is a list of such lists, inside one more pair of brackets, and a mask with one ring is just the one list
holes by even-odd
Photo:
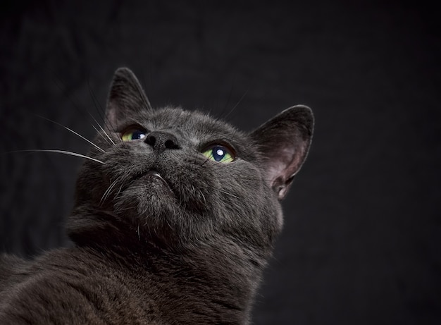
[[294, 104], [313, 108], [313, 145], [284, 202], [254, 324], [441, 324], [435, 5], [2, 6], [0, 250], [66, 245], [81, 159], [8, 152], [85, 154], [87, 143], [39, 116], [93, 137], [89, 113], [100, 119], [113, 71], [129, 66], [154, 106], [228, 115], [244, 130]]

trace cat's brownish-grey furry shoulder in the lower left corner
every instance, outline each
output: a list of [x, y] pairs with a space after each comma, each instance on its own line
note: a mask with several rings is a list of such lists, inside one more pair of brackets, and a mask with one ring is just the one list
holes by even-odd
[[[78, 247], [46, 252], [31, 261], [1, 255], [0, 324], [21, 324], [20, 317], [31, 322], [36, 317], [41, 324], [51, 317], [59, 324], [152, 321], [154, 303], [137, 294], [137, 286], [123, 269], [105, 252]], [[59, 312], [54, 315], [54, 310]]]

